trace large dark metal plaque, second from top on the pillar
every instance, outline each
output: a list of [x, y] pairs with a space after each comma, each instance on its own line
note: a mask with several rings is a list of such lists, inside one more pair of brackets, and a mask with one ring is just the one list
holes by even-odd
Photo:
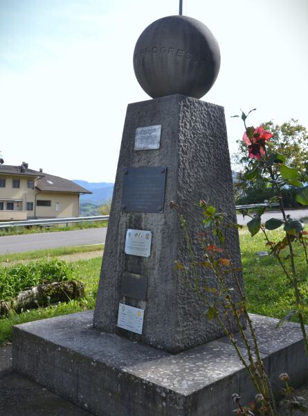
[[123, 211], [163, 212], [166, 170], [165, 166], [128, 168], [123, 179]]

